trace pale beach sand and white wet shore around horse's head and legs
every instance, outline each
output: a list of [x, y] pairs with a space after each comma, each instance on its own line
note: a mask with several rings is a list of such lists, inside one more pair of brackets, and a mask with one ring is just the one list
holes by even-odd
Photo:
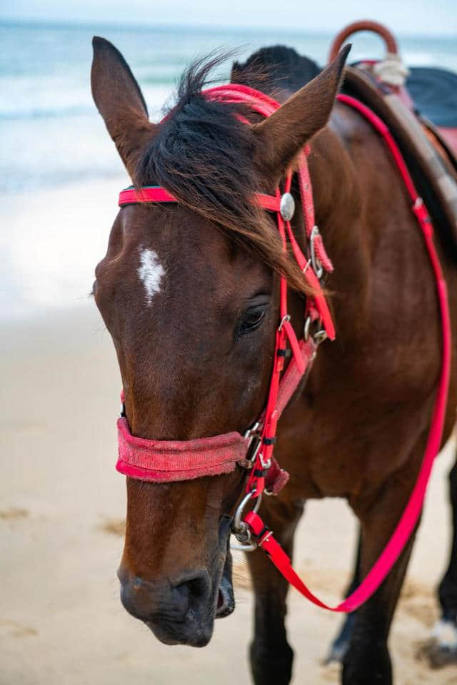
[[[21, 212], [21, 198], [2, 210], [10, 215], [15, 258], [25, 255], [21, 265], [28, 291], [35, 292], [40, 283], [43, 287], [36, 313], [1, 326], [0, 684], [248, 684], [252, 597], [242, 557], [236, 557], [234, 574], [236, 611], [216, 621], [205, 649], [160, 644], [119, 601], [116, 567], [126, 495], [124, 477], [114, 464], [121, 384], [109, 334], [86, 298], [117, 190], [117, 181], [91, 184], [85, 193], [78, 188], [66, 192], [65, 201], [53, 192], [52, 197], [28, 198]], [[44, 222], [44, 205], [51, 200], [52, 212]], [[84, 223], [87, 203], [94, 210], [91, 225]], [[41, 217], [42, 232], [34, 228], [35, 216]], [[42, 273], [34, 270], [30, 244], [43, 240], [45, 252], [63, 220], [66, 228], [79, 230], [79, 240], [72, 240], [78, 254], [84, 253], [81, 273], [65, 279], [56, 253], [49, 256], [55, 273], [44, 283], [46, 263]], [[68, 253], [67, 244], [61, 259]], [[51, 308], [47, 299], [56, 283], [61, 293], [74, 291], [61, 309]], [[436, 620], [435, 587], [448, 558], [446, 475], [452, 459], [450, 444], [436, 462], [391, 632], [396, 685], [457, 681], [457, 666], [431, 671], [418, 657]], [[306, 506], [296, 566], [330, 602], [339, 599], [351, 573], [355, 529], [342, 501]], [[338, 666], [322, 662], [341, 617], [312, 607], [293, 590], [289, 607], [288, 634], [296, 652], [293, 682], [338, 683]]]

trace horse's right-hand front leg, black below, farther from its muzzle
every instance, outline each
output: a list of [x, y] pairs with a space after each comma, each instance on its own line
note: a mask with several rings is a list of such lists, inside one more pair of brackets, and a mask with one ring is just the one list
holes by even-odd
[[[408, 467], [411, 472], [411, 462]], [[373, 506], [359, 514], [362, 577], [376, 562], [406, 506], [406, 479], [402, 482], [402, 475], [389, 479]], [[354, 615], [351, 643], [343, 659], [343, 685], [392, 685], [387, 639], [414, 537], [411, 535], [383, 584]]]

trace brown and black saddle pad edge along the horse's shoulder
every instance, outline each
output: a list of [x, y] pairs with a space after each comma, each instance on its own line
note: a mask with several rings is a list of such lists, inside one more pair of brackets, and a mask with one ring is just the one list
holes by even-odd
[[[418, 193], [426, 203], [436, 232], [446, 243], [451, 243], [457, 260], [457, 173], [451, 151], [448, 150], [449, 161], [443, 159], [417, 116], [369, 72], [346, 67], [343, 92], [363, 102], [386, 123], [405, 158]], [[433, 133], [438, 137], [436, 131]]]

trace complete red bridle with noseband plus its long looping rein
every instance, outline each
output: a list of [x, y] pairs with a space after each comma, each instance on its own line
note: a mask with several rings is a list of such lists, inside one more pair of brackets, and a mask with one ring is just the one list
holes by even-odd
[[[261, 113], [263, 116], [269, 116], [279, 107], [279, 103], [276, 101], [247, 86], [229, 84], [219, 88], [211, 88], [205, 91], [205, 95], [211, 99], [224, 102], [247, 103], [253, 111]], [[236, 529], [236, 533], [238, 539], [244, 542], [249, 542], [251, 538], [255, 539], [256, 544], [265, 550], [281, 574], [310, 602], [332, 612], [353, 612], [366, 602], [373, 592], [376, 592], [376, 589], [386, 578], [393, 564], [395, 564], [400, 556], [411, 532], [413, 532], [418, 522], [433, 460], [441, 445], [451, 367], [451, 323], [448, 311], [446, 282], [443, 279], [438, 255], [433, 245], [431, 220], [425, 205], [423, 205], [421, 198], [418, 197], [406, 164], [391, 133], [383, 121], [361, 102], [345, 95], [339, 95], [338, 100], [361, 113], [386, 141], [406, 185], [408, 194], [411, 196], [412, 210], [423, 232], [433, 273], [436, 278], [443, 333], [443, 362], [431, 427], [428, 433], [426, 452], [416, 485], [391, 539], [359, 587], [336, 607], [328, 607], [327, 604], [321, 602], [306, 587], [291, 567], [290, 559], [273, 538], [273, 534], [268, 531], [268, 528], [255, 510], [246, 514], [244, 520]], [[273, 494], [276, 494], [286, 483], [288, 475], [278, 467], [273, 458], [273, 447], [276, 442], [276, 424], [303, 375], [311, 367], [318, 344], [326, 337], [331, 340], [335, 338], [333, 322], [320, 283], [323, 270], [331, 271], [333, 267], [326, 255], [321, 235], [314, 225], [311, 179], [309, 178], [308, 165], [306, 163], [307, 152], [307, 150], [303, 151], [300, 156], [298, 185], [303, 205], [306, 236], [310, 248], [309, 258], [303, 255], [291, 230], [290, 219], [293, 213], [293, 203], [291, 203], [290, 199], [291, 171], [286, 176], [284, 193], [282, 195], [279, 188], [276, 189], [275, 196], [266, 196], [263, 193], [256, 194], [256, 201], [261, 207], [267, 211], [276, 212], [278, 232], [283, 243], [283, 250], [287, 249], [287, 241], [289, 241], [293, 255], [303, 272], [303, 278], [306, 278], [308, 284], [313, 287], [316, 293], [316, 295], [308, 300], [306, 305], [305, 335], [298, 342], [287, 313], [287, 283], [284, 278], [281, 278], [280, 321], [276, 330], [276, 345], [268, 400], [262, 416], [256, 426], [248, 430], [244, 436], [241, 436], [238, 432], [232, 432], [225, 435], [184, 442], [144, 440], [134, 437], [129, 431], [126, 418], [121, 417], [119, 419], [119, 460], [116, 465], [116, 468], [121, 473], [139, 480], [170, 482], [230, 472], [238, 464], [251, 468], [246, 486], [248, 495], [245, 501], [246, 499], [260, 497], [266, 487]], [[141, 202], [176, 202], [176, 198], [171, 196], [164, 188], [158, 187], [128, 188], [125, 191], [121, 191], [119, 196], [120, 206]], [[321, 330], [318, 330], [318, 333], [310, 337], [308, 336], [307, 327], [316, 321], [321, 325]], [[290, 347], [290, 352], [288, 346]], [[291, 362], [286, 371], [283, 372], [286, 355], [289, 353], [292, 355]], [[237, 514], [240, 514], [240, 518], [241, 512], [242, 509], [238, 509]]]

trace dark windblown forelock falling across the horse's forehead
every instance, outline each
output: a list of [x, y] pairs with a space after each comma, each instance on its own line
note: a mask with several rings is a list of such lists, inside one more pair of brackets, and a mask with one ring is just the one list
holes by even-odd
[[[285, 276], [292, 288], [307, 293], [295, 260], [283, 253], [276, 221], [252, 201], [261, 189], [255, 162], [258, 140], [251, 126], [236, 116], [248, 116], [246, 106], [210, 101], [201, 93], [226, 57], [199, 59], [184, 71], [176, 103], [139, 159], [135, 184], [163, 186]], [[244, 65], [244, 83], [253, 78], [265, 83], [264, 67], [255, 61]]]

